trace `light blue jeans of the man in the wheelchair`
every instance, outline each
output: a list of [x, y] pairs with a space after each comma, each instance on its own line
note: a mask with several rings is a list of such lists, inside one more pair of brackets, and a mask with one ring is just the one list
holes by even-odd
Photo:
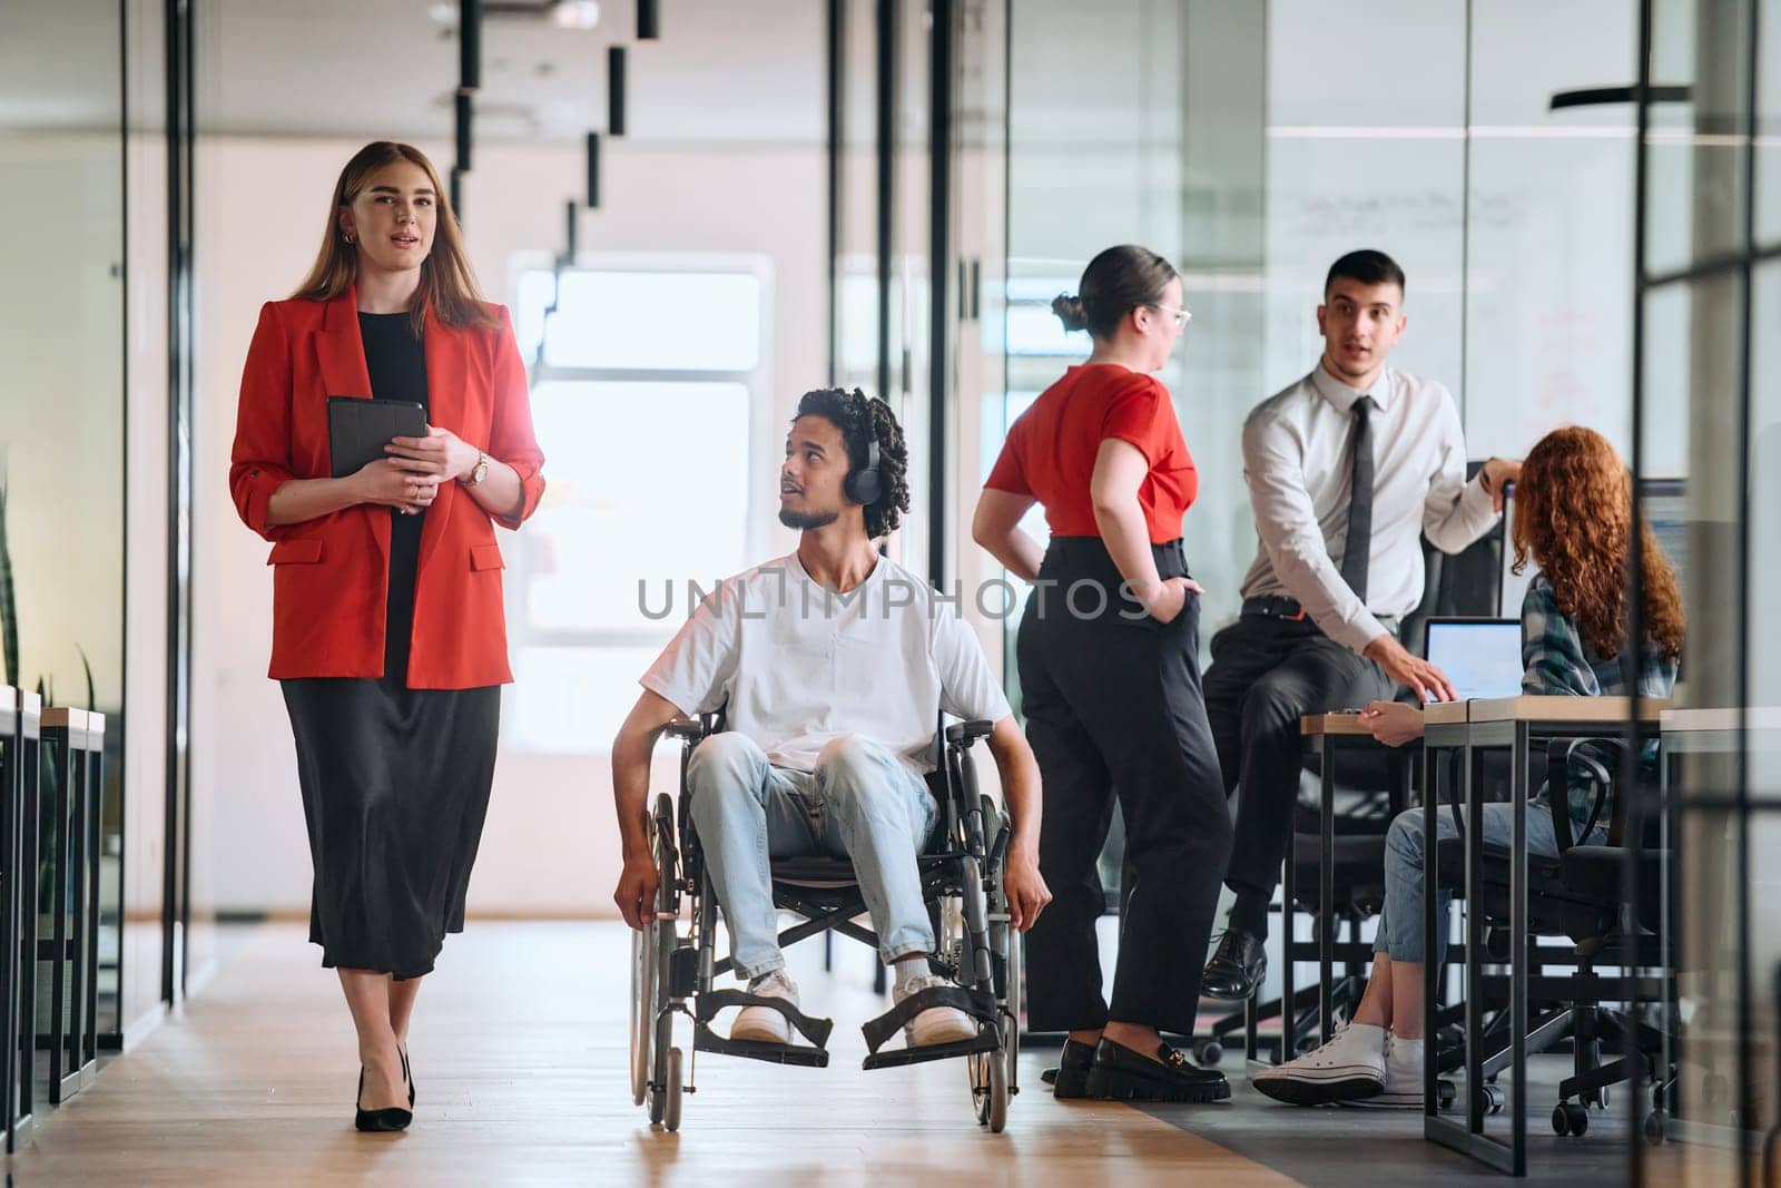
[[848, 734], [812, 773], [775, 768], [744, 734], [712, 734], [693, 750], [686, 785], [741, 978], [785, 967], [769, 858], [851, 858], [885, 964], [933, 951], [915, 855], [940, 805], [889, 748]]

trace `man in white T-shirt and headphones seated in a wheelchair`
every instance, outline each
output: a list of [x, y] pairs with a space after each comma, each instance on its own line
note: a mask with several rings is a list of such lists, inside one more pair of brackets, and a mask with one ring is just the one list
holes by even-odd
[[[930, 972], [935, 933], [917, 867], [944, 819], [924, 775], [940, 712], [992, 721], [988, 746], [1013, 821], [1004, 891], [1026, 930], [1051, 899], [1038, 873], [1038, 766], [971, 629], [933, 588], [878, 554], [908, 511], [903, 431], [858, 390], [809, 392], [785, 436], [780, 522], [801, 531], [791, 556], [725, 579], [643, 675], [613, 743], [623, 842], [614, 899], [632, 928], [655, 919], [648, 764], [677, 716], [723, 716], [693, 750], [686, 793], [705, 869], [748, 994], [798, 1005], [785, 974], [771, 860], [848, 858], [896, 972], [892, 996], [944, 987]], [[931, 997], [931, 996], [930, 996]], [[978, 1035], [955, 1006], [905, 1028], [908, 1046]], [[730, 1040], [789, 1044], [789, 1017], [744, 1006]]]

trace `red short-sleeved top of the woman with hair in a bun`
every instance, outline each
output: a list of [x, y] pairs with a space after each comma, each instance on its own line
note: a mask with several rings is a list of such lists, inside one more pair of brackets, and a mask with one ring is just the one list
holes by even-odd
[[1053, 536], [1099, 536], [1088, 481], [1108, 438], [1131, 442], [1151, 461], [1138, 486], [1151, 543], [1177, 540], [1181, 517], [1200, 492], [1200, 474], [1168, 388], [1118, 363], [1072, 367], [1045, 388], [1008, 427], [983, 486], [1042, 502]]

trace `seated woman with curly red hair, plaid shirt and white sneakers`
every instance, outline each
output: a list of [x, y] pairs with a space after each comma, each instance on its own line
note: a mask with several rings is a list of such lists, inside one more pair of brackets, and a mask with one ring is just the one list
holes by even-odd
[[[1635, 529], [1637, 525], [1637, 529]], [[1637, 659], [1626, 639], [1626, 570], [1633, 531], [1640, 540], [1640, 623]], [[1651, 525], [1637, 518], [1631, 476], [1614, 447], [1594, 429], [1569, 426], [1548, 433], [1521, 465], [1516, 486], [1516, 572], [1528, 561], [1539, 574], [1521, 604], [1523, 693], [1557, 696], [1612, 696], [1630, 693], [1626, 673], [1637, 671], [1639, 695], [1669, 696], [1681, 657], [1683, 613], [1676, 572], [1658, 547]], [[1628, 663], [1633, 661], [1633, 663]], [[1421, 711], [1395, 702], [1373, 702], [1364, 718], [1373, 736], [1393, 746], [1421, 734]], [[1647, 762], [1653, 755], [1646, 755]], [[1537, 805], [1551, 796], [1553, 773]], [[1612, 793], [1605, 789], [1603, 796]], [[1590, 787], [1564, 773], [1560, 794], [1569, 798], [1576, 844], [1601, 844], [1614, 818], [1612, 805], [1596, 805]], [[1485, 844], [1509, 846], [1514, 805], [1484, 807]], [[1435, 816], [1441, 837], [1457, 837], [1450, 814]], [[1549, 810], [1526, 814], [1528, 853], [1557, 857]], [[1439, 892], [1446, 919], [1450, 896]], [[1435, 926], [1444, 939], [1446, 926]], [[1435, 955], [1439, 960], [1439, 953]], [[1423, 1104], [1423, 810], [1411, 809], [1391, 823], [1386, 837], [1386, 910], [1373, 942], [1373, 976], [1354, 1021], [1318, 1051], [1277, 1069], [1257, 1072], [1256, 1088], [1277, 1101], [1323, 1104], [1346, 1101], [1366, 1106], [1416, 1108]]]

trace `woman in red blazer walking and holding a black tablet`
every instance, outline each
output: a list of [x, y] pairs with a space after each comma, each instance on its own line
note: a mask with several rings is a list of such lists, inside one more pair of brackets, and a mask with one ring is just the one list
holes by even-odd
[[[328, 397], [417, 401], [426, 436], [329, 477]], [[367, 144], [321, 253], [260, 310], [230, 490], [272, 541], [272, 668], [315, 864], [310, 940], [358, 1029], [360, 1129], [415, 1101], [408, 1019], [463, 901], [508, 670], [495, 524], [543, 495], [525, 367], [481, 301], [438, 175]]]

